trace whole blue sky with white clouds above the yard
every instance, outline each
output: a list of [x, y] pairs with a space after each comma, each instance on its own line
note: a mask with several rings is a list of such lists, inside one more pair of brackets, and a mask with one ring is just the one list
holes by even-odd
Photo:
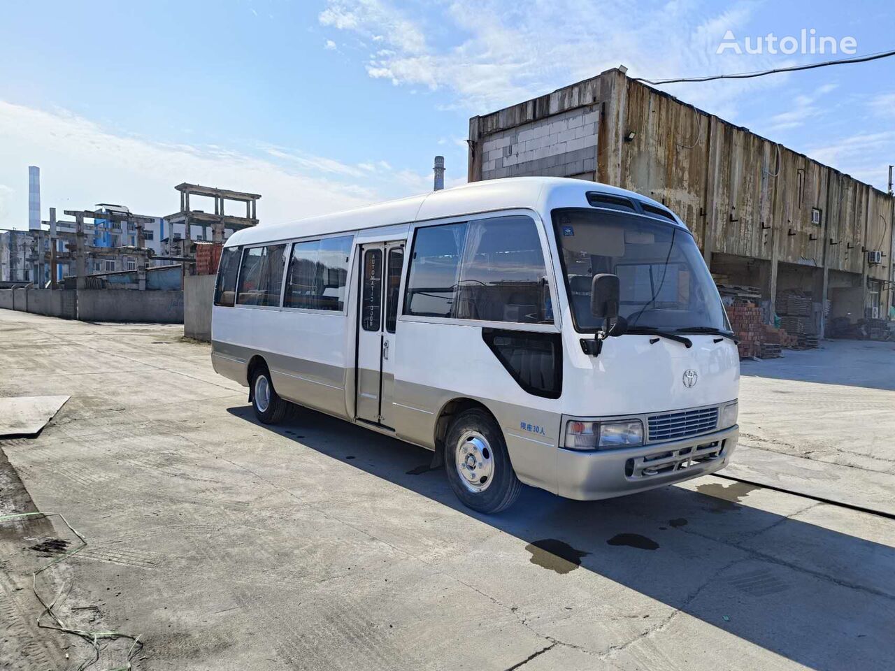
[[[42, 205], [120, 202], [166, 215], [176, 183], [263, 194], [263, 223], [465, 181], [471, 115], [626, 64], [648, 78], [821, 55], [716, 54], [746, 36], [895, 47], [888, 2], [226, 0], [5, 3], [0, 228]], [[895, 163], [895, 58], [665, 87], [884, 188]]]

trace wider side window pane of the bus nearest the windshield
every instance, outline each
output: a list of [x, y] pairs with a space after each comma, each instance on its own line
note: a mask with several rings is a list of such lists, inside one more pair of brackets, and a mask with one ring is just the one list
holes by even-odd
[[533, 219], [471, 221], [455, 307], [459, 319], [553, 321], [541, 239]]

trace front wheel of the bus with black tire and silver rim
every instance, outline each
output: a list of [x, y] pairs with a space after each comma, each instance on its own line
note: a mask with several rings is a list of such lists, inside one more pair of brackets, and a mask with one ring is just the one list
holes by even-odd
[[[476, 437], [483, 437], [484, 441], [480, 441], [479, 444], [471, 443]], [[471, 444], [474, 447], [465, 447], [466, 444]], [[480, 449], [482, 446], [484, 449]], [[482, 462], [490, 460], [490, 469], [485, 467], [480, 471], [475, 471], [477, 467], [465, 469], [464, 465], [458, 466], [457, 453], [461, 449], [472, 453], [473, 463], [477, 454], [481, 455], [487, 451], [489, 454], [485, 455], [477, 467], [481, 466]], [[467, 455], [463, 463], [470, 463], [467, 461], [469, 458]], [[509, 461], [507, 442], [504, 440], [503, 431], [488, 412], [478, 408], [458, 414], [451, 422], [450, 428], [447, 429], [445, 469], [447, 481], [457, 498], [464, 505], [479, 513], [494, 514], [506, 510], [513, 505], [522, 492], [522, 482], [516, 477], [513, 464]], [[461, 475], [461, 469], [465, 469], [470, 475]], [[481, 472], [490, 472], [488, 480], [473, 482], [471, 478], [475, 478], [477, 474], [481, 480]], [[487, 482], [487, 486], [485, 486], [485, 482]]]

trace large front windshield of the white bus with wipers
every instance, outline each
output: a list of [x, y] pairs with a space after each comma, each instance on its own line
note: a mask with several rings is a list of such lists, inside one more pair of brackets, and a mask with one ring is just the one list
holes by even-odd
[[592, 278], [618, 276], [618, 313], [629, 328], [729, 331], [718, 290], [693, 235], [625, 212], [558, 209], [553, 223], [572, 319], [579, 332], [595, 332]]

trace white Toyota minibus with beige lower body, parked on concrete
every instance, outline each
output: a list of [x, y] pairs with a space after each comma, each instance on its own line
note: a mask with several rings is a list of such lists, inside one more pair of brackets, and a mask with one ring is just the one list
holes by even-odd
[[597, 499], [718, 471], [739, 357], [693, 235], [581, 180], [472, 183], [226, 242], [215, 370], [435, 451], [465, 505]]

